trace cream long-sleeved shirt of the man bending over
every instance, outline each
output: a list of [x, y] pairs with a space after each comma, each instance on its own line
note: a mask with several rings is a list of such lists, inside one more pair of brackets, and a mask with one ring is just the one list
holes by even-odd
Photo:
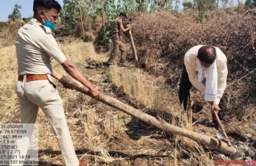
[[[186, 71], [188, 72], [188, 77], [191, 84], [201, 91], [205, 92], [205, 86], [202, 82], [198, 81], [198, 64], [200, 63], [199, 59], [196, 57], [198, 50], [204, 45], [196, 45], [186, 52], [184, 57], [184, 63], [186, 66]], [[214, 102], [216, 104], [220, 103], [220, 99], [223, 96], [224, 90], [227, 86], [227, 57], [218, 47], [216, 49], [216, 65], [218, 72], [218, 89], [217, 89], [217, 100]]]

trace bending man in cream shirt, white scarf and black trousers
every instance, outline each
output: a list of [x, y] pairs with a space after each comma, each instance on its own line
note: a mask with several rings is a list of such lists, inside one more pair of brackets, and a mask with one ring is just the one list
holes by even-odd
[[[185, 68], [182, 72], [179, 88], [179, 100], [184, 109], [189, 108], [189, 90], [193, 85], [205, 95], [212, 110], [218, 111], [221, 123], [224, 123], [223, 93], [227, 86], [227, 57], [218, 47], [211, 45], [196, 45], [184, 56]], [[202, 80], [205, 78], [205, 85]], [[212, 114], [212, 123], [218, 128], [218, 123]]]

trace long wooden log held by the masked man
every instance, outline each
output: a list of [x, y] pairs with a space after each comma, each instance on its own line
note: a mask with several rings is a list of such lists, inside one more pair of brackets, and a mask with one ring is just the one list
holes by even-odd
[[[76, 89], [77, 91], [88, 96], [91, 95], [88, 89], [86, 89], [86, 87], [84, 87], [82, 84], [75, 82], [69, 77], [67, 77], [66, 81], [73, 87], [73, 89]], [[156, 119], [156, 117], [150, 116], [144, 112], [141, 112], [140, 110], [134, 109], [133, 107], [126, 105], [125, 103], [122, 103], [119, 100], [116, 100], [115, 98], [112, 98], [111, 96], [108, 96], [104, 93], [100, 92], [99, 101], [102, 103], [106, 103], [107, 105], [114, 107], [118, 110], [121, 110], [122, 112], [125, 112], [133, 117], [136, 117], [147, 124], [156, 126], [157, 128], [163, 130], [164, 132], [181, 135], [183, 137], [188, 137], [191, 140], [195, 140], [199, 144], [202, 144], [211, 149], [216, 149], [230, 156], [235, 155], [237, 153], [235, 147], [228, 146], [226, 142], [216, 139], [215, 137], [203, 135], [201, 133], [196, 133], [190, 130], [186, 130], [184, 128], [173, 126], [172, 124], [166, 123], [166, 121], [163, 121], [162, 119]]]

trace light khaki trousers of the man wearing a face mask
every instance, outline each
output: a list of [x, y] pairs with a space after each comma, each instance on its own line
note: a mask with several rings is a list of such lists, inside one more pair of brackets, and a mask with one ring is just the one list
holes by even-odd
[[52, 124], [54, 134], [58, 139], [61, 153], [66, 165], [77, 166], [77, 159], [70, 132], [68, 130], [63, 103], [56, 86], [49, 80], [35, 80], [16, 83], [16, 93], [20, 103], [20, 123], [35, 123], [40, 107]]

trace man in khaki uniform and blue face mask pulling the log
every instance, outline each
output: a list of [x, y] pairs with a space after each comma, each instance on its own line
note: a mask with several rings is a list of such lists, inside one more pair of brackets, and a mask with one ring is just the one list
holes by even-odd
[[53, 38], [51, 30], [56, 27], [60, 10], [60, 4], [54, 0], [35, 0], [33, 19], [18, 31], [15, 41], [19, 74], [16, 93], [20, 103], [20, 123], [35, 123], [40, 107], [52, 124], [66, 165], [83, 166], [86, 163], [77, 159], [63, 103], [52, 77], [63, 86], [68, 85], [64, 81], [65, 76], [52, 69], [52, 59], [87, 87], [94, 98], [99, 98], [99, 88], [88, 82], [76, 66], [67, 60]]

